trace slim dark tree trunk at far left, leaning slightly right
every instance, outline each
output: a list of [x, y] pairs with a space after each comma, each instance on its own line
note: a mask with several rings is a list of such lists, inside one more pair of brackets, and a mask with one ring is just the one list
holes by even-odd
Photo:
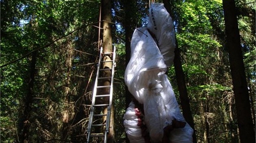
[[37, 52], [34, 52], [32, 55], [32, 60], [31, 60], [31, 66], [30, 66], [30, 76], [28, 79], [28, 93], [24, 99], [25, 102], [25, 108], [23, 111], [23, 115], [21, 117], [21, 122], [20, 122], [20, 136], [19, 140], [20, 143], [28, 143], [29, 142], [29, 128], [30, 128], [30, 112], [31, 112], [31, 104], [33, 101], [33, 88], [34, 88], [34, 82], [35, 82], [35, 65], [36, 65], [36, 57], [37, 57]]

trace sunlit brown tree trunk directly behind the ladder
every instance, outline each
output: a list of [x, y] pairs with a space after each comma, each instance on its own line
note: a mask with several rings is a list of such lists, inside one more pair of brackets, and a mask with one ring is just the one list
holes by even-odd
[[[112, 35], [111, 35], [111, 0], [102, 0], [102, 20], [103, 20], [103, 52], [109, 53], [112, 52]], [[104, 55], [104, 61], [110, 61], [111, 57], [109, 55]], [[105, 68], [112, 68], [111, 62], [103, 63], [103, 69]], [[104, 70], [102, 77], [111, 77], [111, 70]], [[111, 81], [109, 79], [104, 80], [103, 85], [109, 86]], [[108, 94], [110, 88], [104, 88], [103, 94]], [[109, 103], [109, 97], [103, 98], [103, 103]], [[107, 107], [103, 109], [103, 114], [107, 113]], [[106, 121], [106, 116], [104, 116], [103, 121]], [[108, 143], [113, 143], [115, 140], [115, 131], [114, 131], [114, 106], [111, 106], [111, 117], [110, 117], [110, 124], [109, 124], [109, 132], [108, 132]]]

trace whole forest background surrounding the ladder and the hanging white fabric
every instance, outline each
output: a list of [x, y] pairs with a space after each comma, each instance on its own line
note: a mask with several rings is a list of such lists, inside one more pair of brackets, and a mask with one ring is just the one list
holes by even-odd
[[[124, 72], [132, 33], [147, 25], [153, 1], [0, 2], [1, 143], [86, 142], [105, 24], [117, 49], [109, 143], [129, 143]], [[167, 75], [193, 143], [255, 143], [255, 0], [154, 2], [165, 4], [174, 23]]]

